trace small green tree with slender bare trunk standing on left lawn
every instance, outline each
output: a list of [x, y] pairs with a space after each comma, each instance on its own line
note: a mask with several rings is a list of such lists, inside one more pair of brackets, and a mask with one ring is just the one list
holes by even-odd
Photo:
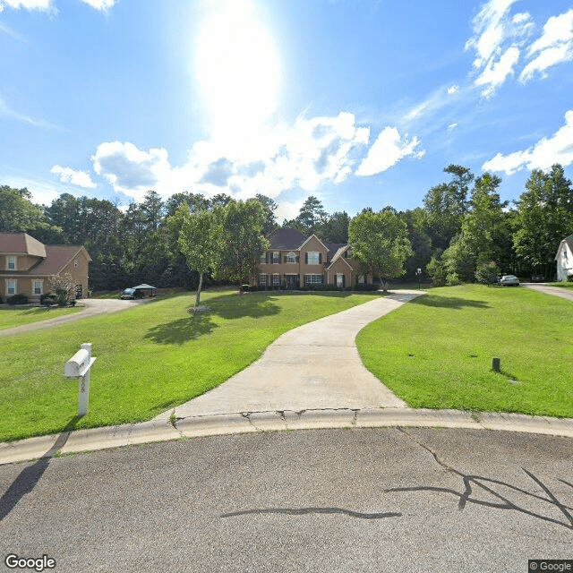
[[[184, 214], [185, 207], [180, 212]], [[199, 286], [195, 297], [195, 308], [201, 304], [201, 287], [203, 275], [217, 264], [221, 252], [221, 235], [216, 214], [208, 210], [190, 213], [188, 208], [184, 215], [183, 226], [179, 234], [179, 248], [187, 259], [190, 269], [199, 273]]]

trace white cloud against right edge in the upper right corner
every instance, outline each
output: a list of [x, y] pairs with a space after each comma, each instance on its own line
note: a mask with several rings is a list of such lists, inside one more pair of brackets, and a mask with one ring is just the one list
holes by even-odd
[[524, 83], [535, 73], [545, 77], [547, 68], [573, 60], [573, 9], [545, 22], [542, 36], [528, 47], [527, 56], [534, 59], [519, 75], [519, 80]]

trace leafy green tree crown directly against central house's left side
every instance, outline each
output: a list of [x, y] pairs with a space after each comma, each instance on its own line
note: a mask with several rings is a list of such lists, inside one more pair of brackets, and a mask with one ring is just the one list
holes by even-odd
[[239, 285], [257, 269], [261, 252], [269, 247], [262, 235], [265, 211], [260, 201], [231, 200], [214, 210], [221, 232], [222, 250], [217, 274]]

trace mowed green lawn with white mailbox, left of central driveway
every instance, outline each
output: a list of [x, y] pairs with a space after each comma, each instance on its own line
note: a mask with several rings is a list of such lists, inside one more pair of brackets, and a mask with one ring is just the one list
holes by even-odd
[[[210, 312], [190, 314], [194, 294], [174, 295], [4, 337], [0, 440], [149, 420], [243, 370], [286, 330], [378, 296], [204, 293]], [[77, 421], [78, 382], [63, 373], [83, 342], [97, 361], [90, 412]]]

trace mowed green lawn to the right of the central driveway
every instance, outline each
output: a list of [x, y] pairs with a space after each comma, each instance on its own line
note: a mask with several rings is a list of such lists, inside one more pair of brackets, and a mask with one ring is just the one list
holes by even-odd
[[572, 333], [567, 300], [468, 285], [433, 289], [366, 326], [356, 344], [408, 406], [573, 417]]

